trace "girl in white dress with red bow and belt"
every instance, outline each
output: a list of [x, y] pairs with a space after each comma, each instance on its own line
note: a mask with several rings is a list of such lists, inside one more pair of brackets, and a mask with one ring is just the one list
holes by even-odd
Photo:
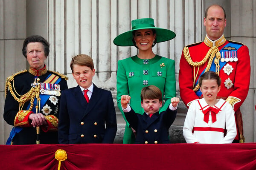
[[195, 100], [189, 106], [183, 126], [186, 142], [232, 143], [236, 137], [235, 112], [228, 102], [217, 99], [221, 89], [220, 77], [208, 71], [201, 75], [198, 84], [204, 98]]

